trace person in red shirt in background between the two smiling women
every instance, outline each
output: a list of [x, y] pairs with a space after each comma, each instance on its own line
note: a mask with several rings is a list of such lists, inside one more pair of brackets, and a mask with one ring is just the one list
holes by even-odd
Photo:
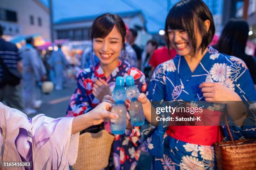
[[[165, 42], [167, 42], [167, 35], [165, 35], [164, 40], [165, 40]], [[174, 49], [172, 43], [169, 47], [169, 50], [168, 50], [167, 45], [165, 45], [164, 47], [161, 47], [159, 49], [154, 50], [153, 55], [149, 60], [149, 65], [151, 65], [150, 77], [153, 75], [153, 72], [154, 72], [155, 68], [159, 64], [173, 59], [176, 55], [177, 55], [177, 52]]]

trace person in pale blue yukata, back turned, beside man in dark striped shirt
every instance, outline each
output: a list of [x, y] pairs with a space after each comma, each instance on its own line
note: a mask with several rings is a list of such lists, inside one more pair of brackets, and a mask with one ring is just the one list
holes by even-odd
[[32, 37], [26, 39], [26, 45], [20, 48], [20, 56], [22, 57], [22, 99], [24, 112], [27, 115], [35, 114], [36, 101], [36, 81], [44, 80], [46, 77], [43, 62], [38, 56], [37, 50], [33, 47], [34, 40]]

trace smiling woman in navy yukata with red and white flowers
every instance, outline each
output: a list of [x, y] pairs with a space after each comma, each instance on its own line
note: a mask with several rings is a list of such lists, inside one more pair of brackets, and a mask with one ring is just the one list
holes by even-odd
[[[97, 106], [105, 95], [111, 96], [118, 76], [134, 77], [140, 92], [146, 92], [145, 75], [137, 68], [118, 57], [125, 49], [125, 24], [118, 15], [109, 13], [97, 17], [91, 30], [92, 46], [99, 58], [94, 67], [81, 70], [77, 75], [77, 88], [69, 103], [67, 116], [87, 114]], [[108, 99], [108, 98], [107, 98]], [[105, 122], [105, 130], [110, 130], [110, 123]], [[115, 135], [111, 164], [115, 169], [134, 169], [139, 157], [137, 151], [140, 138], [139, 127], [132, 127], [127, 120], [127, 130], [124, 135]]]

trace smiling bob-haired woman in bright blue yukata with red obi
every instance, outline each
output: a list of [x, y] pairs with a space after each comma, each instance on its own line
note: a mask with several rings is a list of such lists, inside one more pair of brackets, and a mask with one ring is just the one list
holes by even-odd
[[[215, 26], [207, 5], [202, 0], [177, 2], [166, 18], [165, 31], [168, 47], [173, 42], [178, 55], [156, 67], [147, 96], [141, 94], [138, 98], [148, 122], [151, 122], [150, 101], [215, 101], [226, 104], [228, 117], [234, 122], [230, 128], [235, 140], [255, 138], [256, 126], [242, 126], [246, 115], [238, 112], [243, 109], [249, 116], [249, 111], [241, 103], [228, 102], [250, 104], [256, 100], [250, 73], [241, 59], [208, 47]], [[209, 110], [214, 115], [222, 107], [212, 103]], [[255, 117], [251, 118], [255, 122]], [[155, 170], [213, 170], [216, 161], [212, 145], [220, 142], [220, 130], [220, 126], [159, 124], [141, 148], [154, 156]], [[223, 132], [228, 140], [227, 130]]]

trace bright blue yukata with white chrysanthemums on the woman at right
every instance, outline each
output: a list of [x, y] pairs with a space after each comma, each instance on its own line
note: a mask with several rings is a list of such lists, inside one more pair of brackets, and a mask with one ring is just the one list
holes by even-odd
[[[148, 87], [147, 97], [151, 101], [204, 101], [199, 85], [202, 82], [220, 82], [234, 90], [251, 108], [256, 108], [256, 90], [251, 80], [246, 64], [239, 58], [219, 53], [209, 47], [194, 72], [191, 72], [184, 56], [177, 55], [156, 67]], [[220, 106], [213, 105], [214, 110]], [[249, 112], [248, 112], [249, 114]], [[255, 121], [255, 117], [253, 118]], [[159, 125], [148, 133], [141, 144], [141, 149], [153, 155], [154, 170], [214, 170], [217, 169], [213, 145], [199, 145], [179, 140], [179, 137], [169, 135], [169, 127]], [[220, 126], [208, 126], [216, 128]], [[189, 133], [204, 133], [196, 126], [186, 129]], [[202, 128], [207, 128], [206, 126]], [[197, 129], [198, 131], [194, 131]], [[220, 129], [219, 129], [220, 130]], [[256, 126], [230, 126], [234, 140], [255, 138]], [[167, 135], [168, 134], [168, 135]], [[209, 133], [205, 140], [214, 138], [216, 134]], [[224, 128], [225, 139], [228, 140]]]

